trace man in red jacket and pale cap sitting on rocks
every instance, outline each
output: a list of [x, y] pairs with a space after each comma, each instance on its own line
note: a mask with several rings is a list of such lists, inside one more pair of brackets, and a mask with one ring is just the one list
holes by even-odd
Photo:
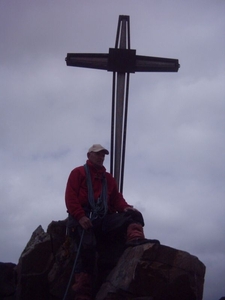
[[76, 300], [92, 299], [92, 277], [100, 241], [106, 246], [112, 237], [124, 245], [145, 241], [141, 213], [126, 202], [115, 179], [103, 166], [108, 154], [107, 149], [94, 144], [88, 150], [86, 164], [72, 170], [66, 186], [68, 229], [78, 244], [81, 240], [73, 285]]

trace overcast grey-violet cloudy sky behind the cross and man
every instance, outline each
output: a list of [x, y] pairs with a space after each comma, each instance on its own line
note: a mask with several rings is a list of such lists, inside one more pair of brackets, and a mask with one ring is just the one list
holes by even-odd
[[[119, 15], [138, 55], [178, 73], [130, 76], [124, 197], [145, 234], [206, 265], [204, 299], [225, 296], [225, 1], [0, 1], [0, 261], [67, 217], [70, 171], [110, 148], [112, 73], [67, 67], [108, 53]], [[109, 157], [105, 166], [109, 170]]]

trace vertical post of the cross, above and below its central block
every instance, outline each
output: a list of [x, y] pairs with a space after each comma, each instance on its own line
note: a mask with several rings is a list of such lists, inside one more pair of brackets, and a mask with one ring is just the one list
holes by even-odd
[[[120, 16], [115, 49], [130, 49], [130, 19]], [[113, 72], [110, 172], [123, 190], [126, 128], [129, 92], [129, 72]]]

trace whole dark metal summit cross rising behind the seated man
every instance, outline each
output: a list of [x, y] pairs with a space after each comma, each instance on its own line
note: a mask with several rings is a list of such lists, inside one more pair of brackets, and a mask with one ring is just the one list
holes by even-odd
[[68, 53], [67, 66], [113, 72], [110, 173], [123, 191], [129, 76], [135, 72], [177, 72], [177, 59], [140, 56], [130, 49], [130, 18], [119, 16], [115, 48], [108, 54]]

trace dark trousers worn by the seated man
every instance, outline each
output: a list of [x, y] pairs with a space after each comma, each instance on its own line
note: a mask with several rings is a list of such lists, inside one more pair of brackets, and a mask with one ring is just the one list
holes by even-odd
[[68, 230], [75, 238], [75, 251], [83, 234], [75, 272], [94, 274], [97, 265], [98, 269], [104, 271], [112, 269], [124, 251], [127, 227], [132, 223], [144, 226], [140, 212], [128, 210], [123, 213], [107, 214], [104, 218], [92, 220], [93, 227], [88, 230], [82, 229], [79, 222], [69, 216]]

